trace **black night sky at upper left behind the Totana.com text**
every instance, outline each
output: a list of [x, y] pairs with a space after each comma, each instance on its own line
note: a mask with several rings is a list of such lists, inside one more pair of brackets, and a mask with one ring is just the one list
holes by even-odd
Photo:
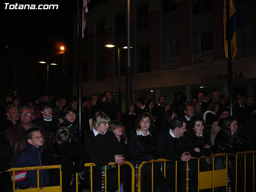
[[[58, 10], [6, 10], [4, 3], [58, 4]], [[73, 17], [77, 1], [12, 1], [2, 2], [3, 16], [0, 35], [10, 48], [18, 48], [24, 54], [46, 54], [59, 51], [58, 42], [72, 49]]]

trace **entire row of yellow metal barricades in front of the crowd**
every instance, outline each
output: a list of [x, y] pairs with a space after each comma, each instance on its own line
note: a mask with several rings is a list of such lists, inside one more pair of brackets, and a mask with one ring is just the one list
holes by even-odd
[[[228, 156], [235, 156], [235, 188], [236, 188], [236, 192], [237, 190], [237, 172], [238, 172], [238, 155], [239, 156], [243, 156], [244, 158], [244, 192], [246, 192], [246, 186], [248, 186], [248, 182], [246, 182], [246, 154], [252, 154], [250, 156], [250, 161], [252, 161], [252, 192], [255, 192], [255, 153], [256, 150], [254, 151], [246, 151], [246, 152], [238, 152], [237, 154], [227, 154], [227, 153], [223, 153], [223, 154], [212, 154], [210, 157], [205, 157], [202, 156], [200, 158], [191, 158], [193, 159], [197, 159], [198, 160], [198, 170], [197, 170], [197, 174], [198, 174], [198, 192], [199, 190], [202, 189], [208, 189], [208, 188], [212, 188], [212, 192], [214, 192], [214, 188], [216, 187], [221, 187], [224, 186], [226, 187], [226, 191], [228, 191], [228, 166], [226, 165], [226, 167], [224, 169], [219, 169], [219, 170], [215, 170], [214, 169], [214, 159], [218, 158], [218, 157], [225, 157], [225, 162], [228, 162]], [[249, 156], [249, 155], [248, 155]], [[200, 172], [200, 159], [201, 158], [212, 158], [212, 170], [210, 171], [204, 171], [204, 172]], [[252, 159], [252, 160], [251, 160]], [[131, 192], [134, 192], [135, 189], [135, 178], [138, 179], [138, 192], [140, 192], [141, 189], [141, 170], [142, 170], [142, 166], [144, 166], [144, 164], [146, 163], [151, 163], [152, 166], [152, 179], [151, 179], [151, 184], [152, 184], [152, 192], [153, 192], [153, 186], [154, 186], [154, 182], [153, 182], [153, 170], [154, 170], [154, 163], [156, 162], [163, 162], [164, 165], [162, 165], [161, 163], [161, 168], [163, 167], [163, 175], [164, 177], [166, 177], [166, 162], [170, 162], [170, 160], [166, 160], [166, 159], [158, 159], [158, 160], [151, 160], [151, 161], [144, 161], [140, 164], [140, 166], [138, 167], [138, 174], [135, 175], [135, 169], [134, 166], [128, 162], [125, 161], [124, 164], [128, 164], [132, 170], [131, 172]], [[109, 163], [108, 165], [114, 165], [116, 163]], [[186, 191], [188, 192], [188, 181], [189, 181], [189, 166], [188, 166], [189, 162], [186, 162]], [[93, 190], [93, 177], [92, 177], [92, 167], [95, 166], [94, 163], [86, 163], [84, 165], [85, 167], [90, 167], [90, 191], [92, 192]], [[52, 187], [44, 187], [44, 188], [40, 188], [39, 187], [39, 170], [41, 169], [60, 169], [60, 186], [52, 186]], [[6, 172], [12, 172], [13, 173], [13, 192], [22, 192], [24, 190], [15, 190], [15, 171], [22, 171], [22, 170], [37, 170], [37, 188], [31, 188], [31, 189], [26, 189], [26, 192], [62, 192], [62, 171], [61, 171], [61, 165], [52, 165], [52, 166], [35, 166], [35, 167], [24, 167], [24, 168], [11, 168], [9, 170], [7, 170]], [[104, 172], [105, 172], [105, 176], [104, 176], [104, 190], [105, 192], [107, 192], [107, 172], [106, 172], [106, 166], [104, 166]], [[177, 176], [177, 170], [178, 170], [178, 164], [177, 161], [175, 162], [175, 191], [178, 191], [177, 188], [177, 181], [178, 181], [178, 176]], [[251, 171], [251, 170], [250, 170]], [[76, 173], [76, 192], [78, 192], [78, 174]], [[249, 178], [250, 179], [250, 178]], [[118, 192], [120, 192], [120, 165], [118, 165]]]

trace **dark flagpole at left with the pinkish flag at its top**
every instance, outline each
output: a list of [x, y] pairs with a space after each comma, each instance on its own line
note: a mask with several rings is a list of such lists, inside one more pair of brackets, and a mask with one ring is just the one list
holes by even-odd
[[[79, 136], [81, 136], [81, 114], [82, 114], [82, 33], [83, 33], [83, 0], [78, 1], [79, 4], [79, 23], [78, 23], [78, 126]], [[83, 140], [83, 138], [82, 138]]]

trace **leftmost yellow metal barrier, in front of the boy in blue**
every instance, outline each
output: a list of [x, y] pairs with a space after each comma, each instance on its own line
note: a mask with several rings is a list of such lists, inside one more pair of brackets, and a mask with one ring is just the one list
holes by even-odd
[[[41, 169], [60, 169], [60, 186], [52, 186], [52, 187], [39, 187], [39, 170]], [[37, 188], [31, 188], [31, 189], [18, 189], [15, 190], [15, 171], [24, 171], [24, 170], [37, 170]], [[22, 168], [10, 168], [6, 172], [12, 171], [12, 186], [13, 186], [13, 192], [62, 192], [62, 172], [61, 172], [61, 165], [50, 165], [50, 166], [35, 166], [35, 167], [22, 167]]]

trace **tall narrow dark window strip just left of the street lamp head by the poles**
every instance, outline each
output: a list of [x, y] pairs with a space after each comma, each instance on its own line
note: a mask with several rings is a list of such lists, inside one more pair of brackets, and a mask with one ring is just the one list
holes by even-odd
[[105, 78], [104, 57], [105, 20], [96, 23], [96, 79]]

